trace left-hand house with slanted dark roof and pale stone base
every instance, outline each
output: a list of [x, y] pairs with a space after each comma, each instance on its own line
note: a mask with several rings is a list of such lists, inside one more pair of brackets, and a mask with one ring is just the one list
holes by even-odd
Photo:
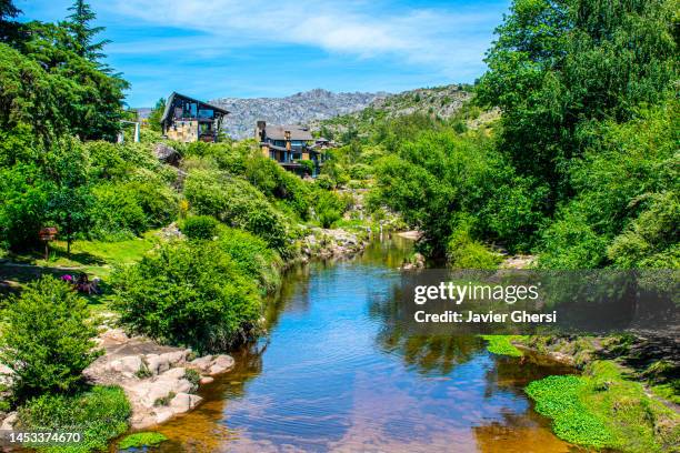
[[160, 122], [163, 135], [171, 140], [214, 142], [227, 114], [224, 109], [173, 92]]

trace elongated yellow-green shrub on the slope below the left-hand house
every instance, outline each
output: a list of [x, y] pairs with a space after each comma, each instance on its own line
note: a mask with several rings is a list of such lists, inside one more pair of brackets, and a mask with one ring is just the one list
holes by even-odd
[[222, 172], [196, 170], [187, 177], [184, 197], [197, 214], [212, 215], [230, 226], [254, 233], [279, 253], [287, 253], [286, 219], [248, 181]]

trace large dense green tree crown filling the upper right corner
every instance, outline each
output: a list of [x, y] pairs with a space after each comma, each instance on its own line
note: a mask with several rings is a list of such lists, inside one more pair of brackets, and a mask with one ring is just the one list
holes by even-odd
[[[503, 111], [502, 148], [523, 174], [569, 193], [593, 122], [632, 119], [677, 80], [673, 0], [516, 0], [497, 29], [479, 99]], [[553, 202], [556, 199], [553, 198]]]

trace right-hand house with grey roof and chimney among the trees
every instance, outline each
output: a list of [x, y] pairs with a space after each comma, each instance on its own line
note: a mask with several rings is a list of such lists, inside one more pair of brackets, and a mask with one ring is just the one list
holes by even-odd
[[[312, 177], [319, 173], [323, 153], [313, 147], [314, 139], [309, 128], [258, 121], [256, 139], [260, 142], [262, 154], [279, 162], [286, 170], [300, 175], [310, 170]], [[302, 161], [310, 161], [311, 169]]]

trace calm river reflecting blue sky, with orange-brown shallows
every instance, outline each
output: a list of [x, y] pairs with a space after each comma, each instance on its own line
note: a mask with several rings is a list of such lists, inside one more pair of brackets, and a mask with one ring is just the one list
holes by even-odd
[[284, 275], [269, 334], [163, 424], [162, 452], [569, 452], [522, 389], [569, 372], [489, 354], [474, 336], [409, 336], [389, 322], [410, 242]]

